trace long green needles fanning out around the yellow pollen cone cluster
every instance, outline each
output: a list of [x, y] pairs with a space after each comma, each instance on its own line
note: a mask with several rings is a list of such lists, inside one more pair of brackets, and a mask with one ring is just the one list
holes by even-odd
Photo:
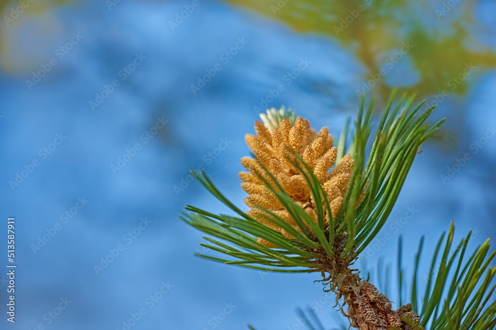
[[[439, 121], [428, 130], [428, 126], [423, 123], [431, 114], [433, 108], [415, 118], [423, 102], [412, 111], [409, 111], [413, 96], [407, 99], [406, 94], [404, 94], [392, 108], [394, 95], [395, 93], [391, 95], [379, 122], [368, 159], [366, 149], [372, 132], [374, 99], [366, 108], [365, 97], [362, 98], [357, 121], [355, 122], [353, 142], [348, 147], [346, 146], [346, 141], [350, 121], [347, 121], [338, 143], [337, 158], [343, 157], [346, 147], [353, 150], [354, 170], [341, 211], [335, 219], [324, 219], [325, 213], [331, 214], [330, 201], [327, 200], [326, 193], [309, 166], [303, 161], [302, 157], [294, 153], [293, 159], [289, 157], [288, 160], [293, 163], [305, 178], [314, 200], [323, 200], [323, 204], [316, 203], [317, 205], [315, 205], [317, 223], [288, 196], [276, 178], [262, 164], [260, 166], [265, 172], [261, 174], [266, 174], [265, 177], [268, 177], [270, 181], [267, 182], [267, 180], [263, 179], [265, 186], [291, 214], [303, 234], [285, 223], [271, 210], [262, 209], [267, 214], [267, 220], [285, 229], [294, 236], [294, 239], [286, 238], [278, 231], [258, 223], [225, 197], [203, 172], [191, 172], [191, 174], [205, 189], [238, 216], [215, 215], [187, 205], [186, 210], [191, 213], [184, 214], [181, 219], [192, 227], [225, 241], [225, 243], [216, 241], [215, 246], [208, 245], [207, 247], [233, 258], [228, 259], [226, 263], [229, 262], [243, 267], [253, 268], [258, 263], [263, 265], [264, 268], [273, 271], [280, 271], [280, 267], [303, 267], [311, 271], [311, 263], [304, 261], [312, 259], [312, 253], [309, 252], [309, 248], [322, 248], [327, 256], [332, 257], [334, 255], [334, 237], [343, 231], [347, 233], [347, 244], [342, 257], [350, 253], [359, 254], [377, 235], [387, 220], [417, 154], [418, 147], [442, 123], [442, 121]], [[398, 113], [400, 113], [399, 116]], [[276, 128], [280, 126], [283, 118], [291, 119], [294, 123], [295, 113], [291, 110], [288, 112], [283, 108], [280, 110], [270, 109], [262, 117], [268, 125]], [[367, 186], [365, 198], [357, 208], [358, 197], [366, 187], [367, 181], [370, 182], [370, 185]], [[324, 228], [325, 220], [330, 224], [326, 228]], [[262, 246], [256, 242], [258, 237], [262, 237], [280, 248], [270, 249]], [[244, 249], [245, 251], [239, 249]], [[254, 256], [248, 258], [247, 255], [240, 254], [244, 252], [254, 254]], [[269, 261], [267, 261], [267, 258], [269, 258]], [[233, 261], [240, 262], [233, 263]]]

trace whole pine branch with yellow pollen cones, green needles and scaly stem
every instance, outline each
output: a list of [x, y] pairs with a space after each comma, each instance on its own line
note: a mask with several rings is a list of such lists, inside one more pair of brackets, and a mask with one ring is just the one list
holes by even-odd
[[[393, 108], [394, 97], [393, 93], [379, 121], [368, 158], [374, 99], [367, 109], [365, 98], [362, 99], [351, 143], [347, 140], [348, 120], [337, 148], [332, 147], [332, 137], [326, 128], [317, 134], [310, 129], [308, 121], [295, 119], [291, 109], [269, 109], [261, 116], [264, 123], [255, 123], [257, 135], [246, 136], [254, 159], [242, 159], [249, 173], [240, 173], [240, 178], [248, 192], [250, 211], [239, 209], [204, 172], [191, 172], [205, 189], [237, 214], [216, 215], [186, 206], [189, 213], [183, 213], [180, 217], [183, 221], [220, 239], [204, 237], [208, 244], [201, 245], [228, 257], [197, 255], [264, 271], [320, 272], [328, 290], [336, 292], [338, 299], [344, 298], [351, 326], [360, 329], [381, 329], [386, 325], [423, 329], [428, 324], [436, 330], [493, 329], [496, 305], [493, 302], [487, 309], [483, 306], [495, 288], [489, 289], [495, 271], [489, 268], [482, 283], [476, 284], [495, 254], [486, 258], [489, 249], [486, 242], [462, 267], [467, 237], [448, 258], [453, 226], [446, 236], [441, 266], [433, 282], [434, 265], [444, 236], [437, 244], [421, 305], [417, 270], [423, 240], [416, 256], [412, 304], [398, 310], [392, 310], [389, 299], [371, 283], [363, 281], [358, 270], [351, 269], [386, 222], [419, 147], [444, 121], [430, 127], [425, 122], [434, 107], [418, 114], [425, 100], [410, 110], [414, 96], [407, 98], [404, 94]], [[345, 155], [345, 150], [350, 153]], [[401, 241], [399, 250], [401, 305], [404, 293]], [[456, 271], [448, 283], [448, 273], [459, 252]]]

